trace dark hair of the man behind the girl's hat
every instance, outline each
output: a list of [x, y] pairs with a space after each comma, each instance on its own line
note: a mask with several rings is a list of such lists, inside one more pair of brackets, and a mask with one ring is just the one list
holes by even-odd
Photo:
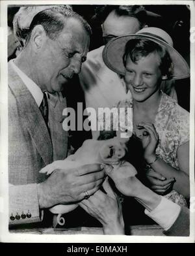
[[140, 28], [146, 25], [146, 9], [142, 5], [104, 5], [96, 8], [96, 14], [93, 17], [94, 22], [103, 24], [110, 12], [114, 10], [116, 16], [129, 16], [137, 18], [140, 22]]

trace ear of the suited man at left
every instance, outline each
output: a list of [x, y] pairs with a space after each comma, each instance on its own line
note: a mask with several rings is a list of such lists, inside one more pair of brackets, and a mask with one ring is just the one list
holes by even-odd
[[45, 39], [46, 33], [44, 27], [42, 25], [36, 25], [34, 29], [32, 29], [31, 33], [31, 42], [34, 49], [39, 50], [40, 48], [42, 48]]

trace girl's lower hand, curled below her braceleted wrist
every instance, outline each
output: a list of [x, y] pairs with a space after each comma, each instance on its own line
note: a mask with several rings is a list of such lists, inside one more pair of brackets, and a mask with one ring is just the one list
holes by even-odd
[[168, 194], [172, 190], [175, 182], [175, 178], [166, 179], [152, 169], [146, 172], [146, 177], [149, 180], [150, 188], [159, 195]]

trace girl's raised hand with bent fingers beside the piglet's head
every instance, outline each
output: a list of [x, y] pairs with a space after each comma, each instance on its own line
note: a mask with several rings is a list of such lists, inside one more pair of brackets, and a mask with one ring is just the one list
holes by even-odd
[[153, 123], [140, 122], [136, 125], [138, 129], [144, 128], [142, 133], [142, 147], [144, 149], [144, 159], [147, 163], [155, 161], [155, 150], [159, 141], [159, 135], [157, 134]]

